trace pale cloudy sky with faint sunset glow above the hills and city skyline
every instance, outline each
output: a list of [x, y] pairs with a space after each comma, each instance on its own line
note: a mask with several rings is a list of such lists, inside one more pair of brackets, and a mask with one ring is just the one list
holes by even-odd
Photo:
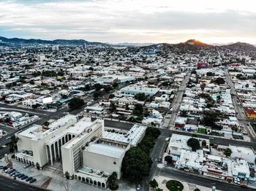
[[255, 0], [0, 0], [0, 36], [256, 44]]

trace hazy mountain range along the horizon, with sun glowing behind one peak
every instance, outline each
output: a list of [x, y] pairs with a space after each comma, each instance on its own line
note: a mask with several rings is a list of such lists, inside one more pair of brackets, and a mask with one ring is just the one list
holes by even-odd
[[[61, 45], [102, 45], [105, 47], [111, 47], [111, 46], [120, 46], [120, 47], [146, 47], [146, 46], [154, 46], [159, 44], [153, 44], [153, 43], [118, 43], [118, 44], [110, 44], [110, 43], [102, 43], [102, 42], [89, 42], [83, 39], [56, 39], [56, 40], [42, 40], [42, 39], [19, 39], [19, 38], [12, 38], [8, 39], [5, 37], [0, 36], [0, 45], [26, 45], [26, 44], [61, 44]], [[162, 43], [171, 47], [176, 47], [179, 49], [202, 49], [202, 48], [214, 48], [214, 47], [220, 47], [230, 50], [244, 50], [244, 51], [253, 51], [256, 52], [256, 47], [252, 44], [244, 43], [244, 42], [236, 42], [231, 44], [224, 44], [224, 45], [217, 45], [217, 44], [206, 44], [203, 42], [200, 42], [195, 39], [189, 39], [187, 42], [181, 42], [178, 44], [166, 44]]]

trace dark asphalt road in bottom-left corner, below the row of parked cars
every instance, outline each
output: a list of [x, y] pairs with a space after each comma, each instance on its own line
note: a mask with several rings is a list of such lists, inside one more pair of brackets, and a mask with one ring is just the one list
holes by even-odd
[[23, 182], [18, 182], [7, 178], [5, 176], [0, 176], [0, 190], [1, 191], [42, 191], [45, 189], [34, 187], [30, 184]]

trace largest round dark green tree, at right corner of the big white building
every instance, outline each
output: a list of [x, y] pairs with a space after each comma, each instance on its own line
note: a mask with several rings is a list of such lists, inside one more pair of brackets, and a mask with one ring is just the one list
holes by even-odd
[[132, 147], [124, 155], [121, 171], [129, 182], [138, 183], [148, 176], [151, 164], [151, 157], [146, 152], [138, 147]]

